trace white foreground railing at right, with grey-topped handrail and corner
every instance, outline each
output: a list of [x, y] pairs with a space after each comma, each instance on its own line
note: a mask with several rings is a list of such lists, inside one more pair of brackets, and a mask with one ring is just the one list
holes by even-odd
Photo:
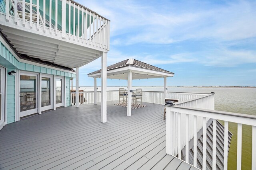
[[[207, 99], [208, 98], [208, 99]], [[193, 139], [193, 165], [197, 165], [197, 132], [203, 127], [202, 169], [206, 169], [206, 131], [207, 121], [213, 119], [212, 169], [216, 169], [216, 121], [224, 121], [224, 170], [228, 165], [228, 122], [238, 123], [237, 169], [241, 169], [242, 124], [252, 126], [252, 169], [256, 169], [256, 116], [225, 111], [214, 111], [210, 96], [180, 103], [166, 108], [166, 153], [181, 158], [185, 146], [186, 162], [189, 163], [189, 141]], [[214, 104], [214, 103], [213, 103]], [[198, 107], [198, 108], [196, 108]]]

